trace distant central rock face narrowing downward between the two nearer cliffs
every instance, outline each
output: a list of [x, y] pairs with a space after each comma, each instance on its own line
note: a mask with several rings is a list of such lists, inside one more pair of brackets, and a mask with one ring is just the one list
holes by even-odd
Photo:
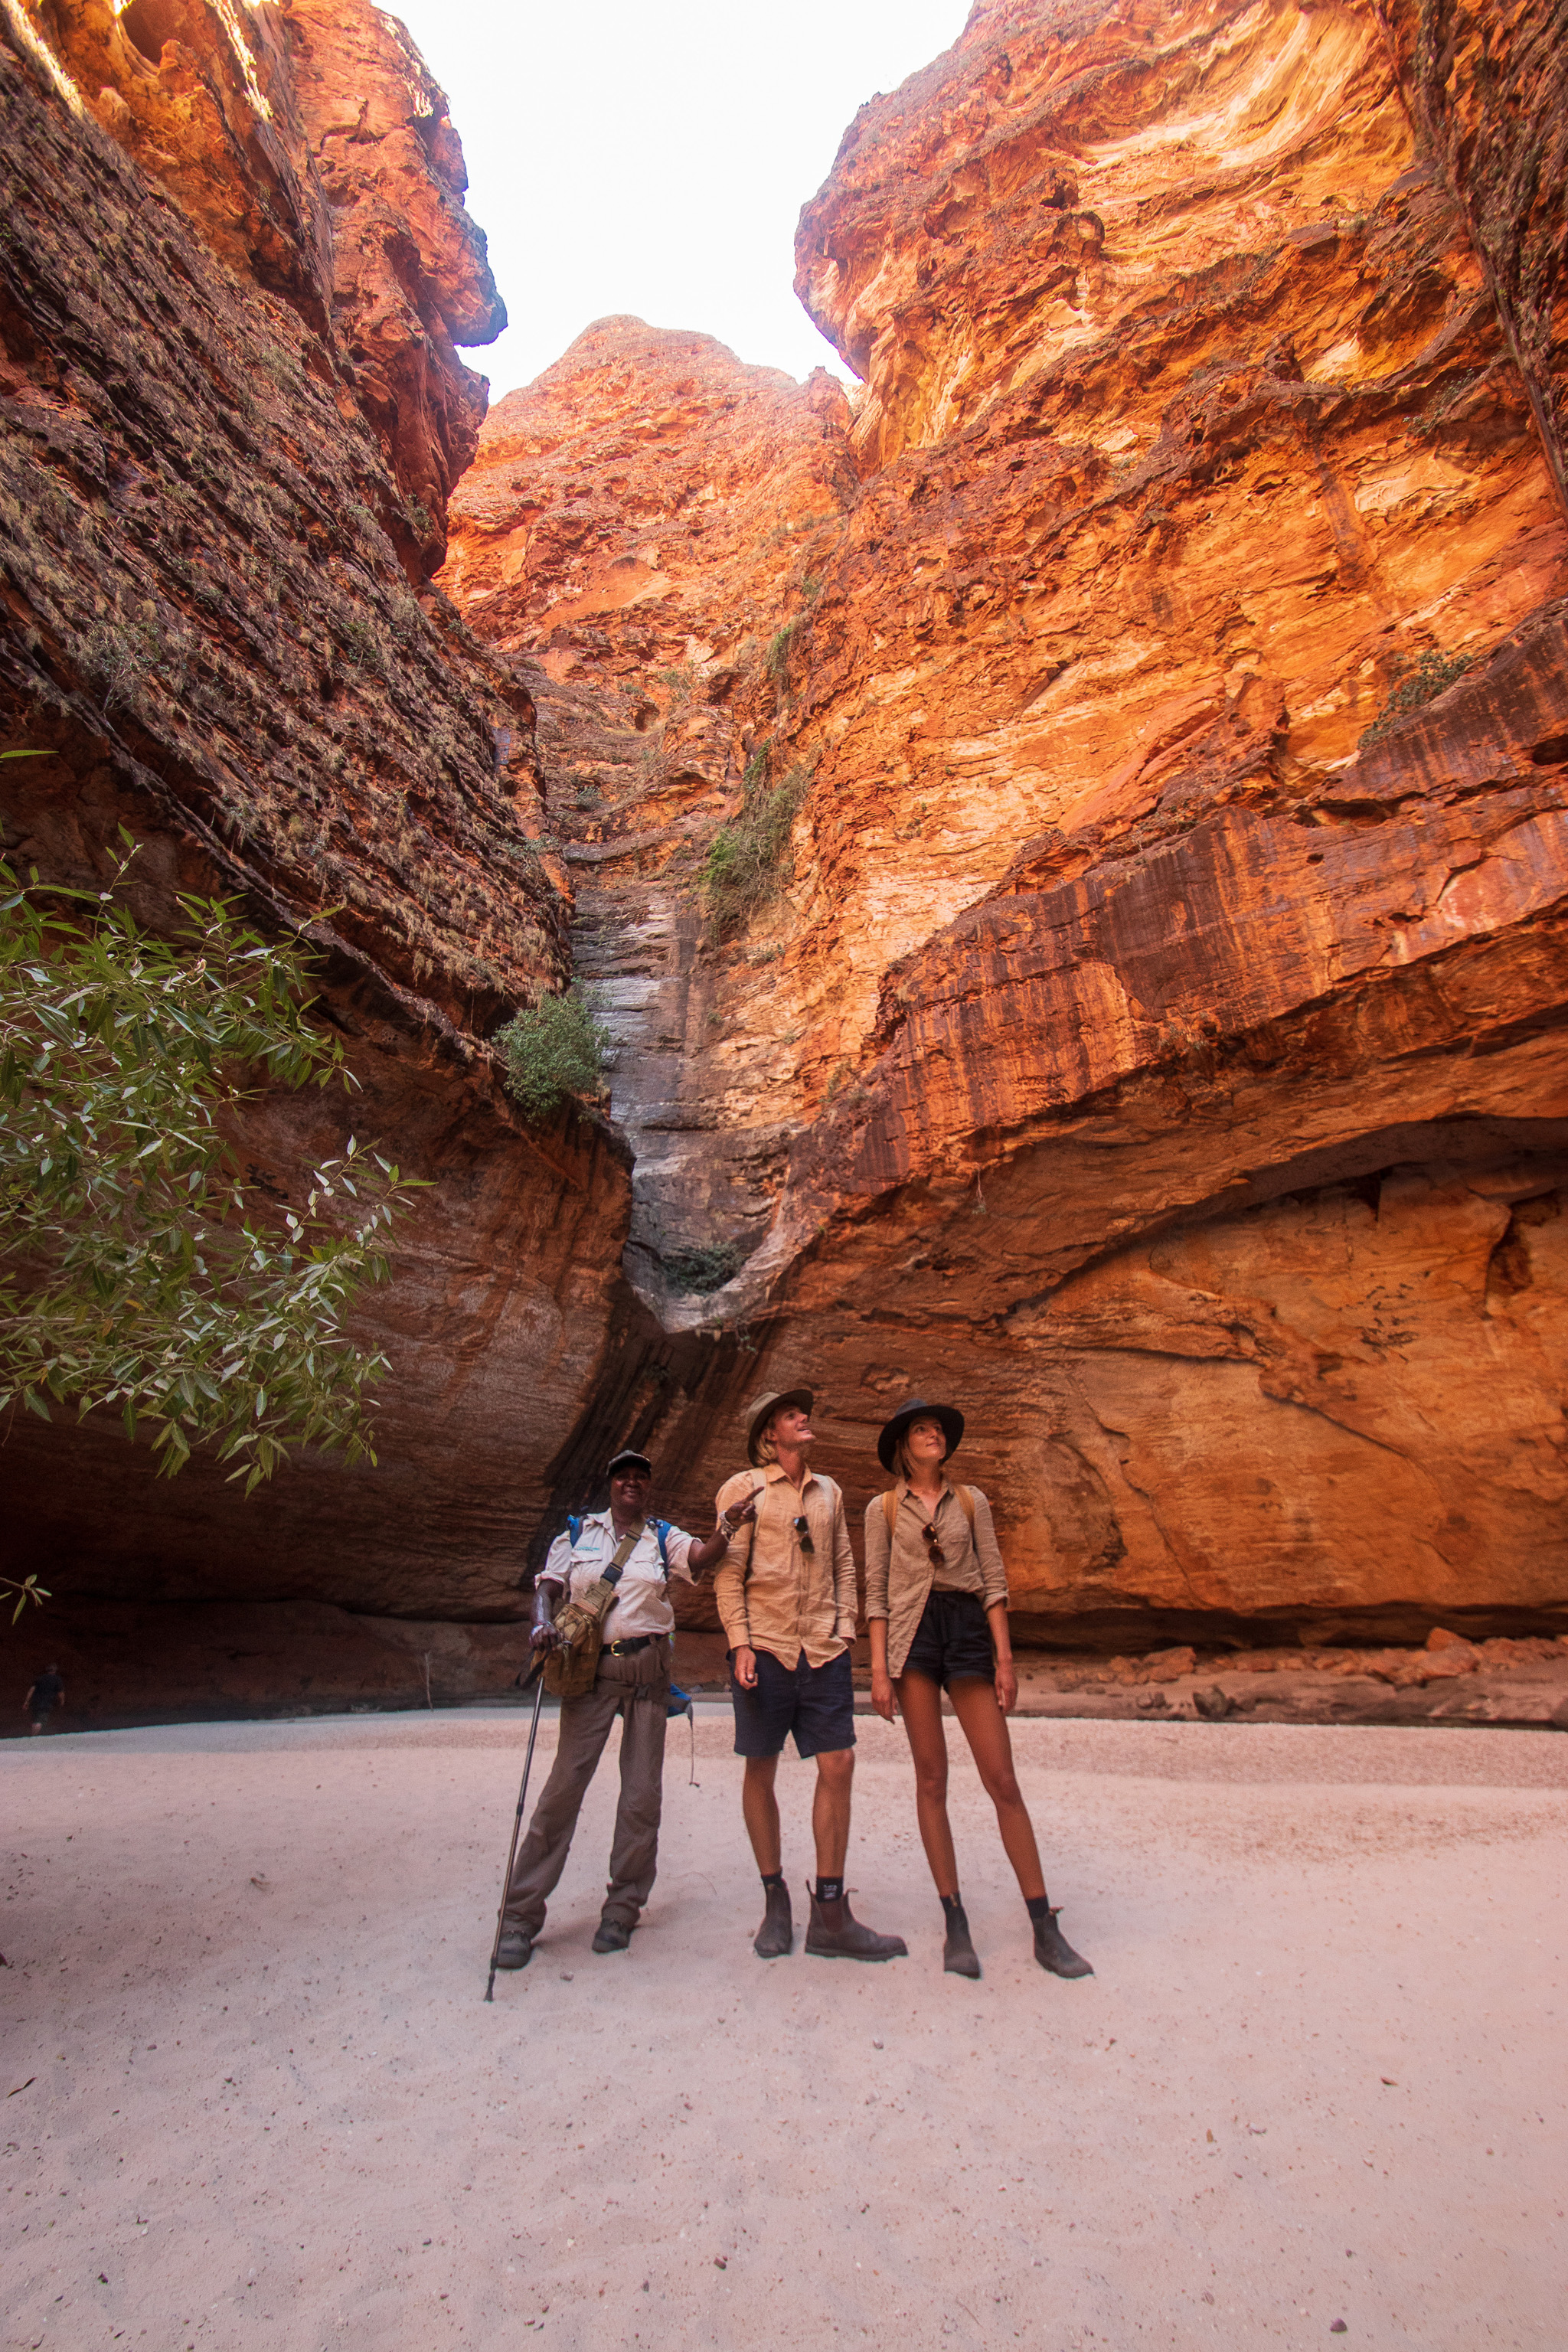
[[682, 1261], [722, 1279], [769, 1232], [795, 1110], [790, 1089], [773, 1120], [731, 1124], [712, 1098], [724, 967], [693, 880], [856, 494], [827, 374], [792, 383], [611, 318], [498, 402], [451, 508], [442, 586], [538, 703], [576, 969], [621, 1049], [628, 1268], [675, 1327]]

